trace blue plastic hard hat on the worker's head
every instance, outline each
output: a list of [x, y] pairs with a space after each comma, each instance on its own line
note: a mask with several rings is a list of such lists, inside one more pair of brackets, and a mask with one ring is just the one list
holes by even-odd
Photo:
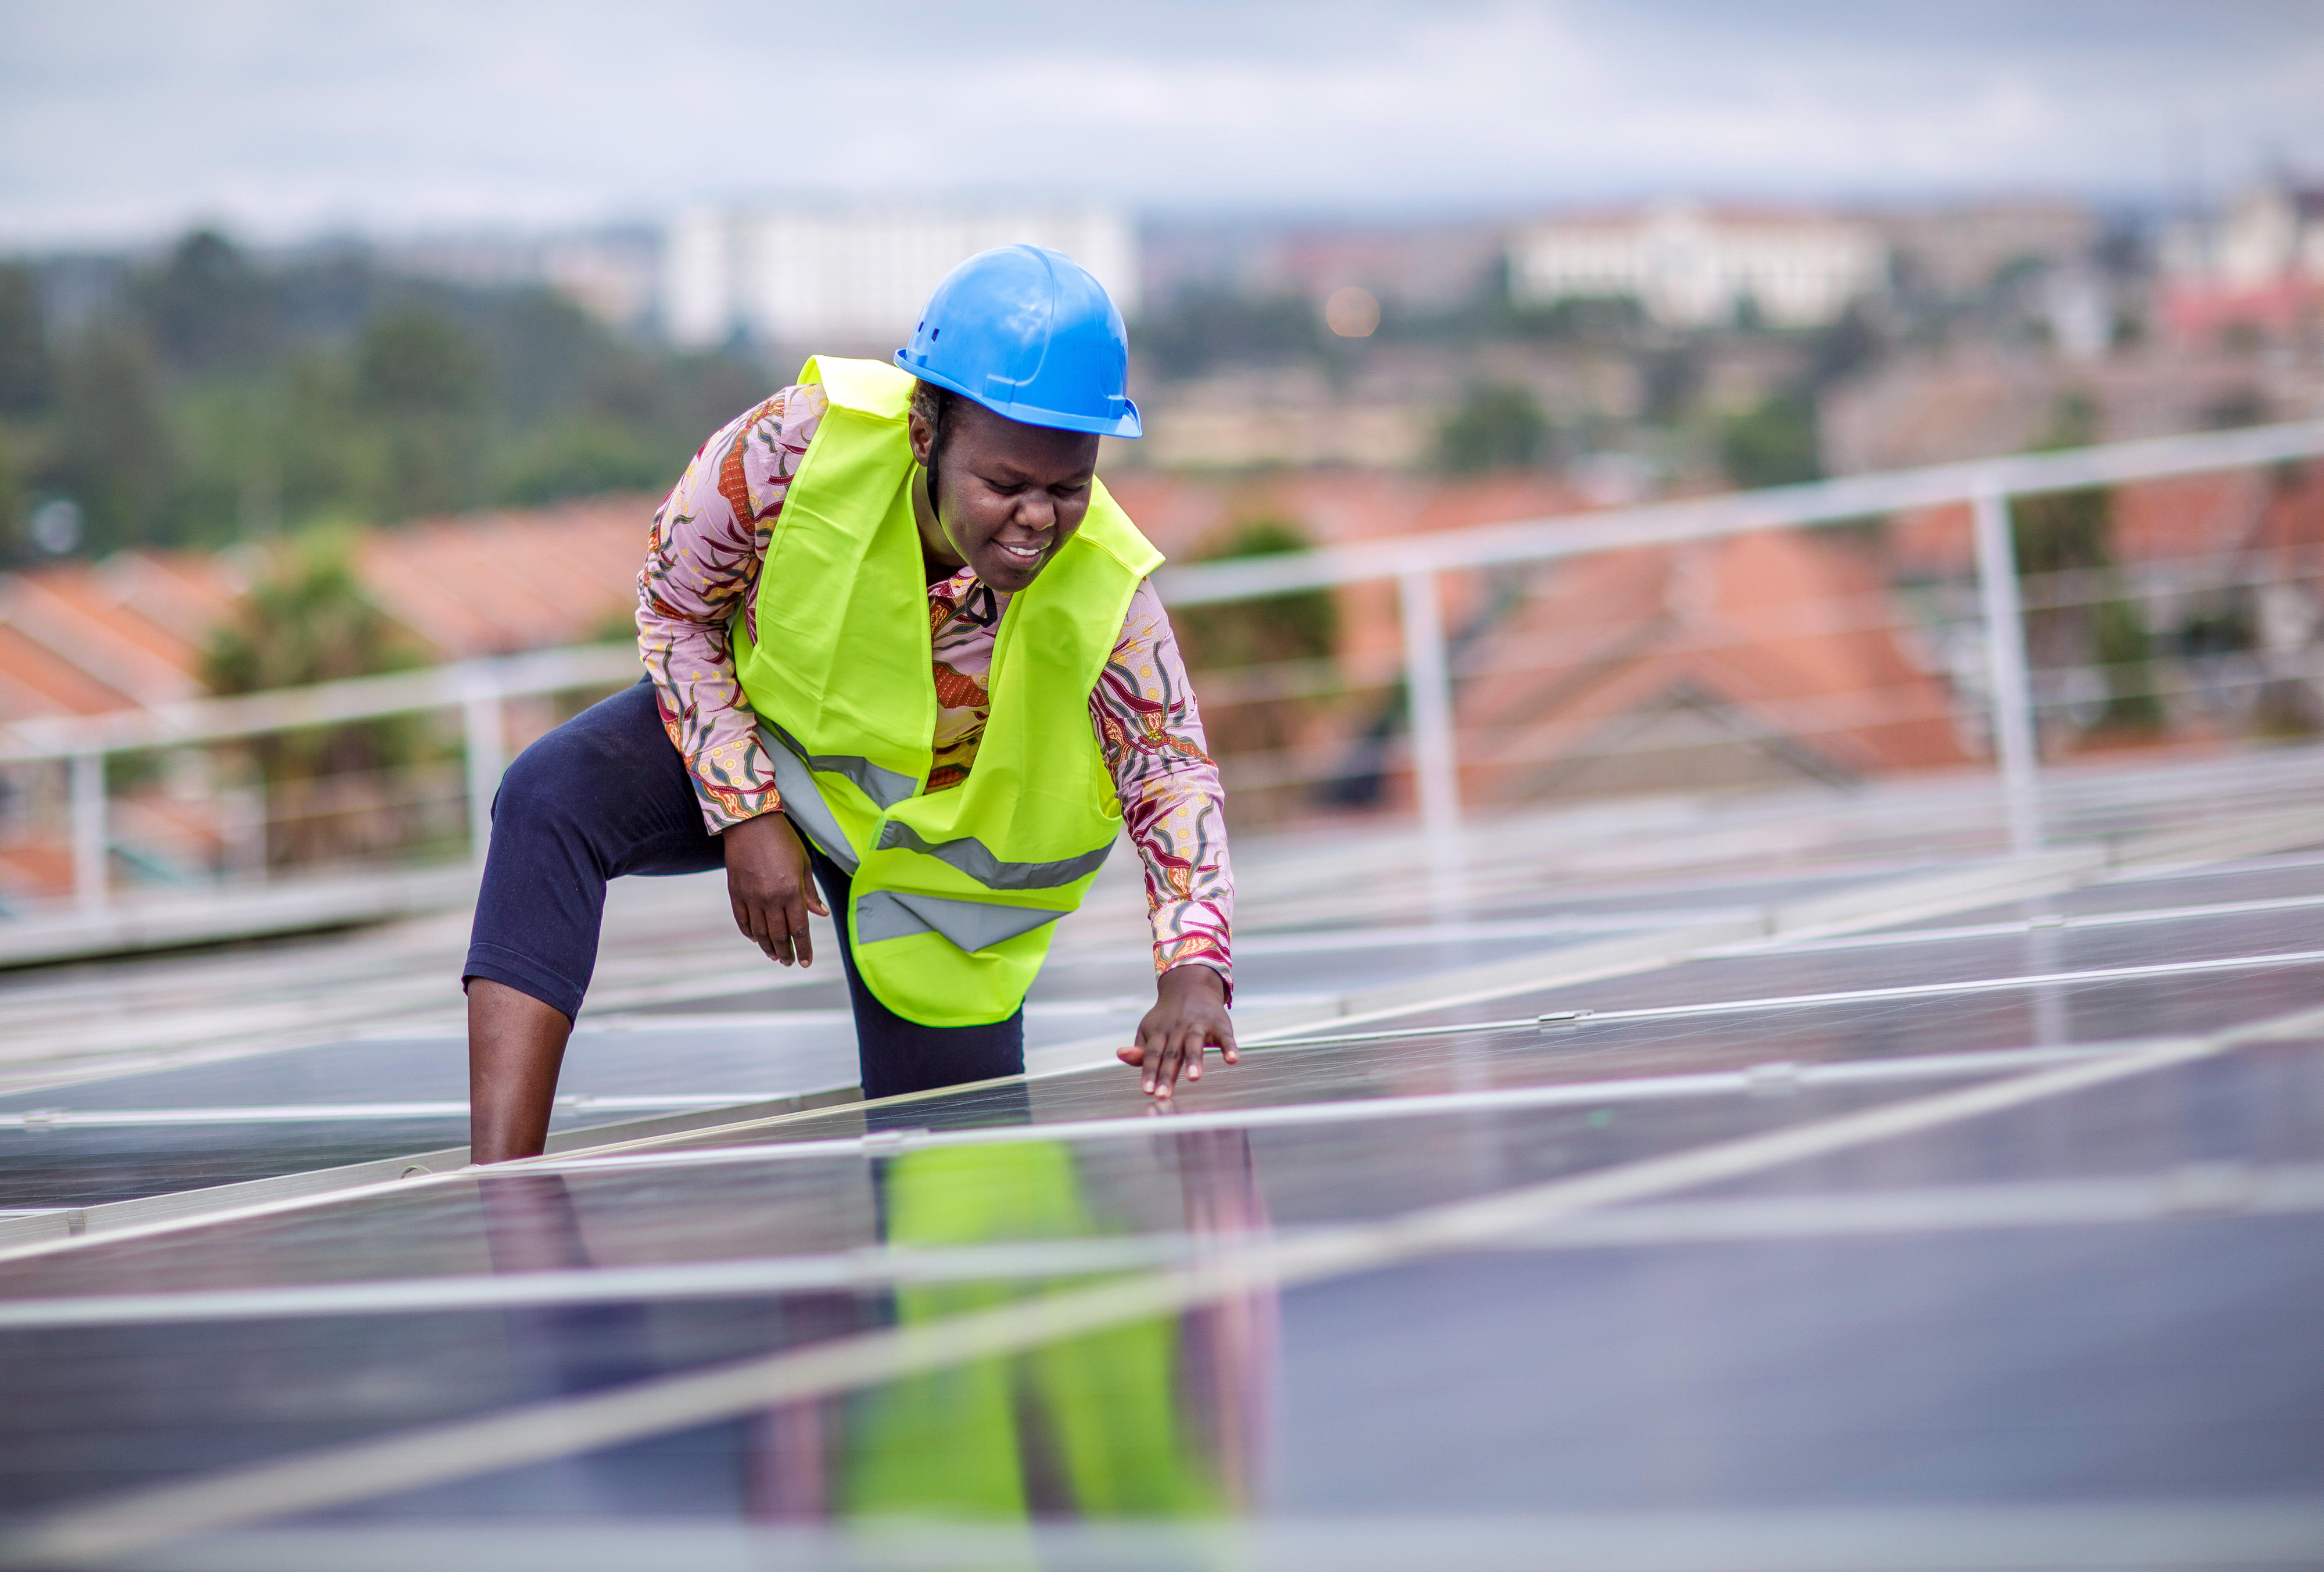
[[997, 246], [944, 274], [895, 363], [1027, 426], [1143, 435], [1125, 395], [1129, 330], [1064, 251]]

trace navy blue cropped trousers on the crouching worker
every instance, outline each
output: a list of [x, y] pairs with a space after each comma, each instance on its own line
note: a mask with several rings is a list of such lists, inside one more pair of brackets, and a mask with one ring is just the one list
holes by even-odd
[[[846, 872], [809, 853], [832, 914], [844, 914]], [[725, 867], [725, 842], [702, 828], [686, 760], [662, 730], [653, 684], [641, 681], [535, 742], [502, 777], [462, 981], [488, 977], [576, 1016], [597, 970], [607, 881], [711, 867]], [[906, 1021], [865, 988], [844, 921], [839, 963], [865, 1098], [1025, 1070], [1023, 1007], [990, 1026]]]

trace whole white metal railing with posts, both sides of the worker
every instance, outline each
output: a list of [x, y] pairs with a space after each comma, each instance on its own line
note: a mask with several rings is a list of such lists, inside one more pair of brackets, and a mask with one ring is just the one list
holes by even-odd
[[[1966, 505], [1973, 519], [1982, 686], [2010, 844], [2043, 842], [2036, 702], [2027, 658], [2010, 500], [2043, 493], [2154, 481], [2180, 474], [2324, 456], [2324, 421], [2233, 433], [2117, 442], [2059, 453], [1864, 474], [1806, 486], [1727, 493], [1573, 516], [1355, 542], [1318, 551], [1167, 567], [1157, 588], [1171, 607], [1250, 602], [1294, 591], [1387, 581], [1397, 595], [1399, 660], [1411, 749], [1413, 800], [1439, 865], [1457, 863], [1462, 758], [1455, 733], [1457, 670], [1446, 633], [1446, 574], [1545, 565], [1601, 551], [1671, 546], [1787, 526], [1834, 526], [1913, 509]], [[1297, 663], [1294, 663], [1297, 665]], [[0, 767], [67, 767], [72, 888], [86, 912], [107, 902], [107, 758], [188, 749], [416, 712], [460, 712], [472, 853], [490, 833], [493, 788], [507, 763], [504, 705], [521, 695], [616, 686], [637, 674], [627, 646], [551, 649], [465, 660], [416, 672], [332, 681], [311, 688], [205, 698], [100, 716], [19, 721], [0, 728]], [[1301, 670], [1292, 686], [1313, 681]]]

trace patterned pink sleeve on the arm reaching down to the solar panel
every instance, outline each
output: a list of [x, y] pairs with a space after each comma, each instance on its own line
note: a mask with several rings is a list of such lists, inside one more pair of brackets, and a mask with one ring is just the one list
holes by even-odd
[[1122, 823], [1146, 865], [1155, 972], [1208, 965], [1232, 998], [1227, 791], [1206, 751], [1195, 686], [1153, 584], [1129, 598], [1122, 637], [1090, 693], [1090, 721], [1122, 798]]

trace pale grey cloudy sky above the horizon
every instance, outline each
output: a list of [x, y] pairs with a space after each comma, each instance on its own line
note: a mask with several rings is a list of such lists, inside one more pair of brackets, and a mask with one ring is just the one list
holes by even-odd
[[737, 195], [1508, 212], [2324, 174], [2324, 0], [5, 0], [0, 246]]

